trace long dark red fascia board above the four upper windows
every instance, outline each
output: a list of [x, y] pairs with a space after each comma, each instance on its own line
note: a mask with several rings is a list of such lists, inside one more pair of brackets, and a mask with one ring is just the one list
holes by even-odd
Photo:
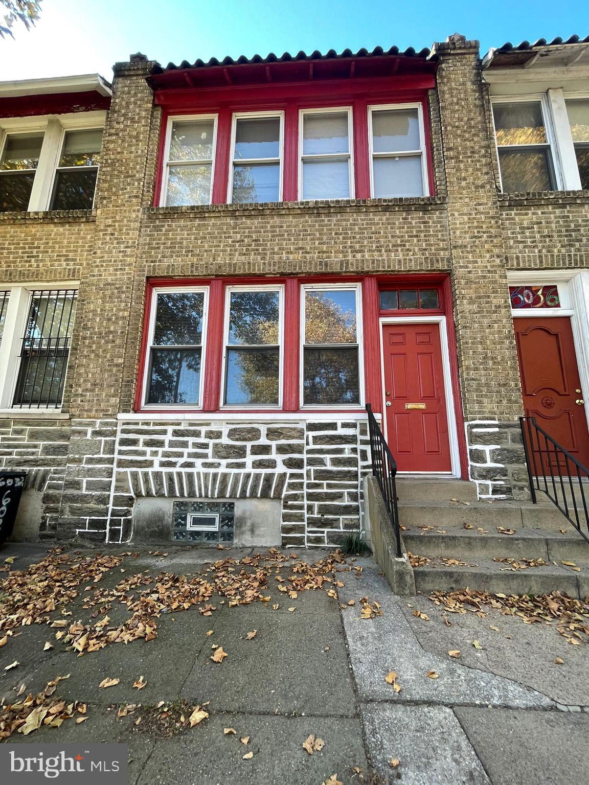
[[415, 76], [390, 76], [383, 79], [333, 79], [321, 82], [291, 82], [262, 85], [231, 85], [226, 87], [199, 87], [188, 89], [155, 89], [154, 103], [168, 110], [181, 108], [212, 108], [225, 102], [236, 104], [284, 103], [288, 99], [311, 101], [321, 95], [330, 97], [374, 97], [382, 94], [388, 98], [397, 94], [419, 93], [436, 86], [434, 74]]

